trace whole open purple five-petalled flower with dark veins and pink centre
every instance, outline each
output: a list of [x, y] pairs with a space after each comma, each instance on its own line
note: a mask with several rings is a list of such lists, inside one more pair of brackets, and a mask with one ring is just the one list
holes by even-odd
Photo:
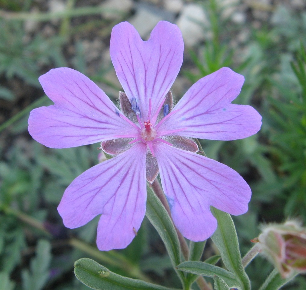
[[52, 69], [39, 82], [54, 105], [34, 109], [29, 132], [47, 147], [96, 142], [115, 157], [68, 186], [58, 206], [66, 227], [76, 228], [102, 214], [100, 250], [126, 247], [146, 210], [146, 179], [158, 172], [173, 221], [192, 241], [217, 227], [210, 206], [233, 215], [247, 211], [251, 190], [234, 170], [196, 154], [190, 138], [233, 140], [258, 132], [261, 116], [231, 104], [243, 76], [222, 68], [196, 82], [173, 107], [170, 88], [183, 61], [176, 25], [160, 21], [148, 41], [128, 22], [111, 33], [110, 55], [125, 93], [118, 109], [89, 78], [70, 68]]

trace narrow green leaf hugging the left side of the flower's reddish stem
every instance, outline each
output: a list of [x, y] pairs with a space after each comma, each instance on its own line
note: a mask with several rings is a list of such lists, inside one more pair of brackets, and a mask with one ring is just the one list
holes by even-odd
[[146, 216], [162, 238], [172, 265], [177, 266], [181, 263], [181, 250], [174, 224], [159, 198], [148, 186]]

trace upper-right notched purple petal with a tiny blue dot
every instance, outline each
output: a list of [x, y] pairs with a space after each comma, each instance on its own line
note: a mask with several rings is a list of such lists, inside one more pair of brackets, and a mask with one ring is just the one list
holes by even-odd
[[161, 120], [159, 135], [176, 135], [234, 140], [251, 136], [259, 131], [261, 116], [247, 105], [230, 104], [240, 93], [244, 77], [223, 67], [201, 78], [173, 108], [176, 111]]

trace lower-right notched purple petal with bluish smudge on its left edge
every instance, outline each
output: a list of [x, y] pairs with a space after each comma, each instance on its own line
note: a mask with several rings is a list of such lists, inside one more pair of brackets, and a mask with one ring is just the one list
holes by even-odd
[[197, 242], [213, 234], [211, 205], [233, 215], [248, 210], [251, 189], [235, 170], [161, 142], [154, 152], [173, 221], [184, 237]]

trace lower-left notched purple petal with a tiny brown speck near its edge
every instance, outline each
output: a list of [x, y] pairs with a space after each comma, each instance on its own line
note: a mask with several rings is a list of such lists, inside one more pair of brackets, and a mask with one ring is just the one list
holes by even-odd
[[[146, 210], [146, 146], [104, 161], [76, 177], [58, 206], [66, 227], [76, 228], [102, 213], [98, 226], [100, 250], [126, 247], [140, 228]], [[133, 229], [134, 228], [134, 229]]]

